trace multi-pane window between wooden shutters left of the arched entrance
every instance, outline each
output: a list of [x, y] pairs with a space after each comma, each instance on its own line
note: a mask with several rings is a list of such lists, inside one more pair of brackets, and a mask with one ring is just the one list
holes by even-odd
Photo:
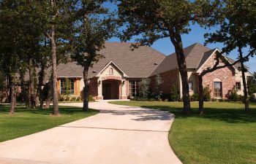
[[61, 95], [74, 95], [74, 79], [61, 79]]

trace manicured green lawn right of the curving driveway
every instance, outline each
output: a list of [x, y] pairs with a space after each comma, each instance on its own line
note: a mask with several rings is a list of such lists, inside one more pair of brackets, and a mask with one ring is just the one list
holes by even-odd
[[181, 114], [173, 102], [115, 101], [113, 104], [143, 106], [176, 114], [169, 132], [170, 145], [182, 163], [256, 163], [256, 104], [246, 114], [244, 104], [207, 102], [206, 114]]

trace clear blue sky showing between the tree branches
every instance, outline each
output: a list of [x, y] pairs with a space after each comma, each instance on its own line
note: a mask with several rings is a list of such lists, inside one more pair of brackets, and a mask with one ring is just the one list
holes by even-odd
[[[113, 4], [108, 4], [108, 7], [110, 7], [111, 9], [116, 9], [116, 7]], [[201, 28], [199, 25], [192, 25], [190, 26], [190, 28], [192, 29], [192, 31], [189, 32], [189, 34], [183, 34], [181, 36], [184, 47], [188, 47], [189, 45], [194, 44], [195, 42], [204, 44], [204, 34], [216, 30], [216, 28], [212, 28], [211, 30]], [[109, 39], [108, 42], [120, 42], [120, 39], [113, 37]], [[131, 40], [130, 42], [135, 42], [135, 39]], [[210, 49], [219, 48], [219, 50], [221, 50], [223, 46], [224, 45], [222, 43], [206, 45], [206, 47], [209, 47]], [[159, 39], [157, 42], [154, 42], [154, 44], [151, 47], [158, 50], [159, 52], [162, 52], [165, 55], [170, 55], [173, 52], [175, 52], [173, 44], [170, 42], [169, 38]], [[244, 55], [247, 55], [248, 50], [244, 49], [243, 52]], [[237, 50], [230, 52], [228, 57], [236, 60], [238, 58]], [[249, 61], [245, 63], [245, 65], [249, 67], [249, 71], [251, 73], [256, 71], [256, 56], [254, 58], [250, 58]]]

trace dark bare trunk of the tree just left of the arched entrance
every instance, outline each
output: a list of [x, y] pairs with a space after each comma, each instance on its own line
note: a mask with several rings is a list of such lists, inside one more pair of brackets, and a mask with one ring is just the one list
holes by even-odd
[[83, 111], [86, 112], [89, 110], [89, 79], [88, 79], [88, 70], [89, 67], [83, 68]]

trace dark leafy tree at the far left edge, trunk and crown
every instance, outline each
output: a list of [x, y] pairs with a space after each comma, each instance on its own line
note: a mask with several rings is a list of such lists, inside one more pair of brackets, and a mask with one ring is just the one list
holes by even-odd
[[17, 74], [26, 68], [27, 55], [38, 42], [34, 42], [33, 24], [24, 14], [23, 1], [1, 1], [0, 8], [0, 66], [8, 79], [12, 114], [15, 112]]

